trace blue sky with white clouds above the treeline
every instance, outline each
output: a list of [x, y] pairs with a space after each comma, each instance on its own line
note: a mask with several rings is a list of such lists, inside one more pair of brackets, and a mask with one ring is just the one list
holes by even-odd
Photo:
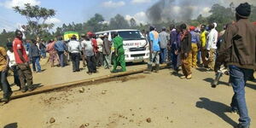
[[[82, 23], [89, 20], [96, 13], [103, 15], [105, 20], [109, 20], [114, 15], [124, 15], [126, 20], [134, 18], [137, 22], [147, 23], [148, 18], [146, 11], [154, 3], [159, 0], [0, 0], [0, 32], [3, 29], [13, 31], [19, 28], [20, 25], [26, 24], [26, 18], [15, 13], [12, 7], [23, 7], [24, 3], [39, 5], [47, 9], [55, 9], [56, 15], [47, 20], [48, 23], [54, 23], [56, 26], [61, 26], [63, 23]], [[176, 3], [182, 0], [176, 0]], [[183, 0], [184, 1], [184, 0]], [[203, 0], [189, 0], [201, 3]], [[198, 7], [199, 13], [208, 15], [208, 10], [212, 3], [226, 4], [230, 1], [243, 2], [249, 1], [255, 3], [256, 0], [206, 0], [211, 3], [200, 4], [203, 7]], [[181, 5], [180, 8], [182, 9]]]

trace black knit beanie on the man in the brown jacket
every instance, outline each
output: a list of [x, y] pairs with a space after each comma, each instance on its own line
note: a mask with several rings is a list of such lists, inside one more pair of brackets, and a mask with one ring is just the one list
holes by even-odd
[[236, 7], [236, 15], [241, 18], [248, 18], [251, 14], [251, 5], [249, 3], [241, 3]]

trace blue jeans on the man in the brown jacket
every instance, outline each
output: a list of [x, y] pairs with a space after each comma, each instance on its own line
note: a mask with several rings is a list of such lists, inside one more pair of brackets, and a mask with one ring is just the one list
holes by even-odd
[[230, 84], [235, 92], [232, 97], [231, 108], [239, 111], [239, 123], [241, 125], [250, 125], [251, 119], [248, 116], [247, 104], [245, 99], [245, 85], [247, 79], [252, 75], [252, 69], [246, 69], [236, 66], [230, 66]]

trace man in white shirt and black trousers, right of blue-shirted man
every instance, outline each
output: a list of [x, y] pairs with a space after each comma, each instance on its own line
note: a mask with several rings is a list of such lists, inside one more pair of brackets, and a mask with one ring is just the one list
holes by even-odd
[[79, 63], [80, 63], [80, 51], [82, 50], [81, 44], [77, 41], [75, 35], [72, 36], [70, 42], [68, 43], [68, 51], [71, 54], [71, 60], [73, 63], [73, 72], [79, 72]]

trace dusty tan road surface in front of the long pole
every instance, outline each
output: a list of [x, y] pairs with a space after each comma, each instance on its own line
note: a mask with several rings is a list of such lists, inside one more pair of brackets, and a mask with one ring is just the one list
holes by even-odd
[[[232, 128], [236, 125], [238, 115], [230, 113], [233, 91], [226, 83], [227, 76], [212, 89], [209, 81], [213, 73], [194, 70], [193, 79], [185, 80], [170, 72], [165, 69], [160, 73], [141, 73], [16, 99], [0, 107], [0, 127]], [[246, 91], [254, 128], [256, 84], [249, 82]], [[51, 118], [54, 123], [49, 122]]]

